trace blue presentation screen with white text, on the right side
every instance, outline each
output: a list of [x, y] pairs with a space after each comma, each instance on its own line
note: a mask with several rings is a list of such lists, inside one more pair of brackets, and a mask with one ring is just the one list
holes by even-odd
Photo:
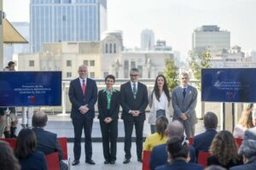
[[201, 101], [256, 102], [256, 68], [201, 70]]

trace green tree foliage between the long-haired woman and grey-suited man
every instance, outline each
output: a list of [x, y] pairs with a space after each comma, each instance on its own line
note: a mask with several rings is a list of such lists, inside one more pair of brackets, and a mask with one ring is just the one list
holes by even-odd
[[174, 60], [166, 59], [166, 68], [164, 71], [164, 76], [168, 83], [168, 88], [172, 90], [178, 84], [178, 68], [174, 64]]

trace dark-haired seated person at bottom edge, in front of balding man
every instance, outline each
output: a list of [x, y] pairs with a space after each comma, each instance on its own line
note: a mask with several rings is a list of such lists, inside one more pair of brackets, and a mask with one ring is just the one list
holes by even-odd
[[189, 162], [189, 142], [185, 138], [172, 137], [167, 142], [168, 150], [168, 163], [160, 167], [156, 167], [156, 170], [178, 170], [178, 169], [204, 169], [199, 164], [188, 163]]

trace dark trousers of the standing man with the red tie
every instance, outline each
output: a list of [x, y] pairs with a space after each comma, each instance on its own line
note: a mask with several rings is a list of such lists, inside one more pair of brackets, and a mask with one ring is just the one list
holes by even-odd
[[85, 159], [90, 160], [92, 156], [91, 146], [91, 129], [93, 119], [73, 119], [73, 130], [74, 130], [74, 144], [73, 144], [73, 155], [75, 160], [79, 160], [81, 156], [81, 136], [84, 128], [84, 152]]

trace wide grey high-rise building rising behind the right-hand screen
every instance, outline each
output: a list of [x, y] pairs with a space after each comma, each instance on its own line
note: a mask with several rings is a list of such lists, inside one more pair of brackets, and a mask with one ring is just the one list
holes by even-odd
[[218, 26], [201, 26], [193, 32], [192, 48], [195, 52], [204, 50], [212, 54], [230, 49], [230, 31], [220, 31]]

